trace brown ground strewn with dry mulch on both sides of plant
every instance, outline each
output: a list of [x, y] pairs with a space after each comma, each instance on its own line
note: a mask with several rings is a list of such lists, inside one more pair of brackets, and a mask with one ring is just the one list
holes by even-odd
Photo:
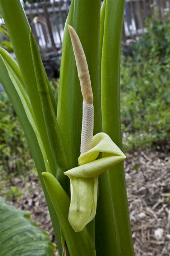
[[[125, 170], [135, 255], [170, 256], [170, 153], [128, 154]], [[14, 204], [29, 210], [55, 242], [37, 175], [29, 175], [27, 181], [15, 178], [15, 184], [27, 190]]]

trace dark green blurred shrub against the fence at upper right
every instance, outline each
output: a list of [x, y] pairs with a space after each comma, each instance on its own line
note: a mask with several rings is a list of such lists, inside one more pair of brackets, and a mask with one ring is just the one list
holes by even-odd
[[142, 59], [149, 60], [150, 64], [154, 59], [167, 63], [170, 57], [170, 18], [165, 16], [160, 19], [157, 10], [152, 18], [146, 21], [147, 32], [132, 46], [134, 60], [142, 62]]

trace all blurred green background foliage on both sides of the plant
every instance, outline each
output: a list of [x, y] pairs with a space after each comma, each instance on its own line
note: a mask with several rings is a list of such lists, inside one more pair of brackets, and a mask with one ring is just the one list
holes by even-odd
[[[125, 153], [141, 149], [169, 150], [170, 142], [170, 19], [148, 19], [147, 32], [121, 55], [121, 114]], [[9, 44], [2, 46], [11, 51]], [[58, 97], [58, 80], [51, 86]], [[0, 188], [17, 199], [18, 188], [5, 184], [35, 169], [27, 140], [4, 91], [0, 92]], [[3, 175], [4, 174], [4, 175]], [[10, 175], [9, 175], [10, 174]], [[4, 177], [3, 177], [4, 176]], [[2, 179], [3, 177], [3, 179]], [[1, 192], [0, 191], [0, 192]], [[3, 193], [3, 194], [4, 194]]]

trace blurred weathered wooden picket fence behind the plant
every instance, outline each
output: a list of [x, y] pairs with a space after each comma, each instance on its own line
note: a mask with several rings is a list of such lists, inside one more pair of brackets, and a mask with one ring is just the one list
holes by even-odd
[[[71, 0], [24, 4], [40, 51], [61, 51], [63, 29], [70, 4]], [[170, 0], [126, 0], [123, 41], [145, 32], [146, 18], [152, 17], [155, 5], [158, 7], [160, 18], [164, 12], [170, 12]]]

